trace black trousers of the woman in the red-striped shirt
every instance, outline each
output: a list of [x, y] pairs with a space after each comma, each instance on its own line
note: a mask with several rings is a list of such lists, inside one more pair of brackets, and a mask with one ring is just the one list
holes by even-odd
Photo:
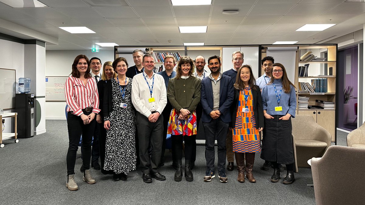
[[[90, 115], [90, 112], [84, 112], [85, 115]], [[91, 141], [95, 130], [96, 120], [92, 120], [89, 124], [84, 124], [80, 116], [73, 115], [71, 112], [67, 113], [67, 128], [69, 134], [69, 148], [67, 151], [67, 175], [75, 174], [76, 152], [80, 136], [82, 134], [82, 165], [84, 170], [90, 169], [91, 158]]]

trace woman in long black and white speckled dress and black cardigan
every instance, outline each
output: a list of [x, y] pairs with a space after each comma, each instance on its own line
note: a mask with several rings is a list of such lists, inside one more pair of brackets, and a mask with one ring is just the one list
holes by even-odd
[[127, 60], [116, 58], [112, 63], [117, 77], [107, 82], [104, 90], [105, 142], [104, 170], [114, 171], [115, 181], [127, 180], [129, 171], [136, 169], [135, 113], [132, 110], [132, 79], [126, 77]]

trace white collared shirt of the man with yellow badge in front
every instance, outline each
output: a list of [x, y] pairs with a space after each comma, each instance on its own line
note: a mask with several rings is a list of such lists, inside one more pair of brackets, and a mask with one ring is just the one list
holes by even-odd
[[[149, 86], [147, 85], [143, 74], [145, 74]], [[154, 83], [152, 97], [155, 101], [149, 102], [149, 99], [151, 98], [150, 88], [152, 88], [153, 78]], [[145, 71], [135, 75], [132, 83], [132, 103], [135, 109], [146, 117], [149, 117], [151, 112], [154, 111], [161, 114], [167, 104], [164, 78], [156, 73], [153, 73], [152, 77], [149, 78]]]

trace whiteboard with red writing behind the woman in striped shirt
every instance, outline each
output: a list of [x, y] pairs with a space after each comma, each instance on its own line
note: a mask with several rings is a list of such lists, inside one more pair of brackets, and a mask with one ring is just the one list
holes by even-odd
[[68, 76], [46, 77], [46, 101], [66, 101], [65, 82]]

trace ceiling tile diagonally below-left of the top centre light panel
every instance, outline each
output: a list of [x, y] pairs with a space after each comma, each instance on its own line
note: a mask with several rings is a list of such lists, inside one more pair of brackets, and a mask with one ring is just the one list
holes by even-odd
[[133, 7], [141, 18], [174, 17], [171, 7]]

